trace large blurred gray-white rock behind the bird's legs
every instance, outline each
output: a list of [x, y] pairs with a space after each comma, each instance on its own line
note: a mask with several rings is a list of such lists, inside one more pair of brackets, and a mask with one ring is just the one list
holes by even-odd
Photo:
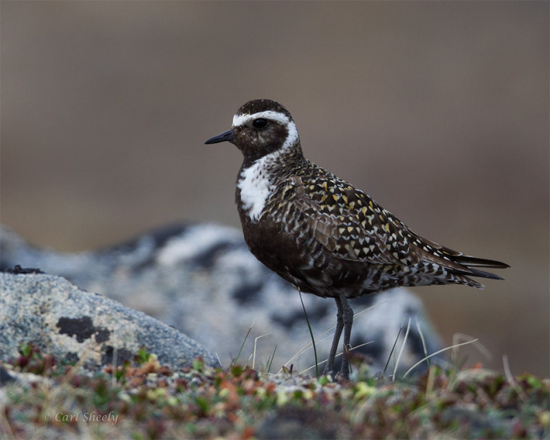
[[[239, 362], [256, 368], [271, 364], [271, 371], [283, 364], [294, 364], [294, 371], [314, 364], [313, 350], [302, 351], [311, 338], [298, 292], [259, 263], [233, 228], [175, 225], [106, 250], [63, 253], [34, 248], [3, 227], [0, 267], [14, 265], [61, 275], [144, 311], [216, 352], [223, 366], [239, 352]], [[319, 360], [326, 359], [336, 304], [310, 294], [303, 294], [303, 301], [319, 338]], [[399, 370], [424, 357], [422, 337], [428, 353], [441, 348], [420, 300], [406, 289], [350, 305], [360, 313], [353, 323], [351, 342], [360, 346], [354, 351], [366, 356], [373, 373], [382, 371], [390, 356], [388, 371], [393, 371], [409, 323]]]

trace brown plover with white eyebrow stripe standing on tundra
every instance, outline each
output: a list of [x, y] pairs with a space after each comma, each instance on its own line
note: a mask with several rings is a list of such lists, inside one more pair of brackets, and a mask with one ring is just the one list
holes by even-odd
[[339, 375], [349, 380], [349, 299], [393, 287], [483, 289], [470, 277], [502, 280], [481, 269], [509, 267], [424, 239], [365, 192], [310, 162], [296, 123], [276, 101], [243, 104], [231, 128], [205, 144], [219, 142], [230, 142], [243, 154], [235, 201], [250, 252], [300, 292], [336, 300], [324, 374], [338, 375], [333, 363], [343, 331]]

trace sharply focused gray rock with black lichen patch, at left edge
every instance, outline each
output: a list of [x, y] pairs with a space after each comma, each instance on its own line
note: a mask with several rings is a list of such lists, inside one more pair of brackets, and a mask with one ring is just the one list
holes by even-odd
[[200, 356], [217, 365], [212, 353], [176, 329], [90, 294], [60, 276], [0, 274], [0, 359], [17, 358], [21, 342], [34, 342], [56, 358], [99, 370], [133, 358], [140, 347], [159, 362], [181, 369]]

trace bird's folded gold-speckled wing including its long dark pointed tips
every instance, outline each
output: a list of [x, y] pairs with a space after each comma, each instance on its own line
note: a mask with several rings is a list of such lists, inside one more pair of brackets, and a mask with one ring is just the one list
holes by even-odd
[[509, 267], [478, 259], [415, 234], [369, 195], [329, 173], [287, 181], [305, 224], [327, 252], [349, 261], [412, 266], [426, 261], [456, 274], [500, 278], [474, 267]]

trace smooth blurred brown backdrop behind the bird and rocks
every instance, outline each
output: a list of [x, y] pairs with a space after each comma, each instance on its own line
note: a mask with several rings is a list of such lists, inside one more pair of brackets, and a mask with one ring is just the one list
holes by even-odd
[[1, 217], [98, 249], [177, 221], [239, 227], [241, 154], [203, 145], [281, 102], [309, 159], [412, 230], [511, 265], [423, 287], [471, 362], [549, 373], [549, 3], [3, 1]]

